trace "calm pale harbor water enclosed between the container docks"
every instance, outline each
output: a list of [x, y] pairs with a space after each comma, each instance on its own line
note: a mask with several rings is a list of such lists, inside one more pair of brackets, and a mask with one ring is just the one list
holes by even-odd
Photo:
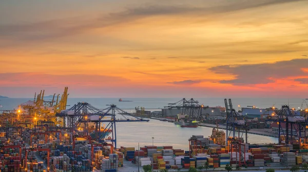
[[[117, 145], [127, 147], [138, 147], [140, 145], [156, 146], [171, 145], [174, 148], [188, 150], [188, 139], [192, 135], [211, 135], [213, 128], [197, 127], [182, 128], [170, 122], [150, 120], [149, 122], [130, 122], [117, 124]], [[248, 134], [249, 143], [278, 143], [278, 138]]]

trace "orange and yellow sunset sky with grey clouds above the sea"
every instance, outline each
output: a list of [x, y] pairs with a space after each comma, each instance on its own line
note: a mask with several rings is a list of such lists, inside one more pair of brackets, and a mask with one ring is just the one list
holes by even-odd
[[1, 1], [0, 65], [12, 98], [308, 98], [308, 1]]

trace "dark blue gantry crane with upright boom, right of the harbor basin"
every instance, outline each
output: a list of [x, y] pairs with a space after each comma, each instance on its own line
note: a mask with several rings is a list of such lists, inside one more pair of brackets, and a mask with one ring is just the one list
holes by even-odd
[[[229, 104], [227, 99], [224, 100], [226, 106], [226, 145], [228, 144], [228, 139], [231, 133], [233, 133], [233, 138], [235, 139], [236, 129], [238, 130], [238, 138], [242, 138], [245, 133], [245, 143], [247, 143], [247, 125], [243, 116], [241, 116], [232, 105], [231, 99], [229, 99]], [[230, 132], [229, 132], [230, 131]], [[240, 136], [240, 133], [242, 135]]]

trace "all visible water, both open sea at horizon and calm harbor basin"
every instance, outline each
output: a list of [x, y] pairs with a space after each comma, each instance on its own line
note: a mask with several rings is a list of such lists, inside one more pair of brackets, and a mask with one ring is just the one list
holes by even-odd
[[[70, 108], [78, 102], [87, 102], [92, 106], [105, 109], [110, 104], [115, 104], [127, 112], [134, 112], [135, 107], [145, 107], [148, 110], [160, 110], [168, 103], [178, 102], [179, 98], [122, 98], [123, 100], [130, 100], [132, 102], [119, 102], [119, 98], [69, 98], [67, 101], [67, 108]], [[18, 105], [27, 102], [28, 98], [21, 99], [0, 99], [1, 110], [17, 109]], [[51, 99], [45, 99], [46, 101]], [[198, 98], [195, 99], [200, 104], [208, 106], [224, 106], [223, 98]], [[238, 105], [241, 107], [256, 106], [259, 108], [267, 108], [275, 106], [277, 108], [281, 105], [290, 105], [290, 107], [301, 108], [303, 99], [271, 99], [271, 98], [234, 98], [232, 99], [234, 108]], [[305, 104], [304, 104], [305, 105]], [[305, 107], [303, 107], [305, 108]], [[203, 135], [204, 137], [211, 135], [212, 128], [198, 127], [198, 128], [181, 128], [174, 123], [162, 122], [159, 120], [150, 120], [149, 122], [119, 122], [117, 123], [117, 147], [132, 146], [138, 147], [144, 145], [172, 145], [174, 148], [188, 150], [188, 139], [192, 135]], [[154, 138], [152, 140], [152, 137]], [[273, 137], [265, 137], [259, 135], [248, 134], [249, 143], [277, 143], [278, 139]]]

